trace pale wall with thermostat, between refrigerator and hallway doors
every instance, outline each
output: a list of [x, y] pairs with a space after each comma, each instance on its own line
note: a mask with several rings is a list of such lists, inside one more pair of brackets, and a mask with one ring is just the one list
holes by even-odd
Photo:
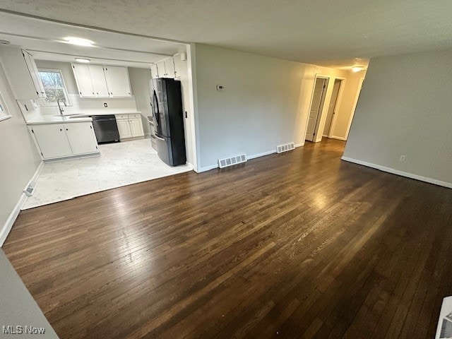
[[[275, 152], [280, 143], [304, 144], [314, 76], [331, 77], [325, 110], [334, 78], [351, 76], [347, 71], [203, 44], [196, 44], [195, 62], [201, 171], [215, 168], [219, 157], [239, 153], [256, 157]], [[356, 93], [353, 84], [345, 86]], [[216, 90], [216, 85], [225, 90]], [[323, 114], [320, 129], [325, 120]]]

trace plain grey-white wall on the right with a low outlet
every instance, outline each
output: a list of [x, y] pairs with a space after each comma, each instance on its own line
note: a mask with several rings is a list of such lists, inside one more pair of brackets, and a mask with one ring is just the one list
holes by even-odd
[[452, 187], [451, 64], [451, 51], [371, 59], [344, 157]]

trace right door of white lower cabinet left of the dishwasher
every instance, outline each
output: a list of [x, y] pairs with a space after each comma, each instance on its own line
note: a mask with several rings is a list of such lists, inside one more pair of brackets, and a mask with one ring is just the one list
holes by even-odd
[[97, 153], [97, 141], [91, 122], [64, 124], [73, 155]]

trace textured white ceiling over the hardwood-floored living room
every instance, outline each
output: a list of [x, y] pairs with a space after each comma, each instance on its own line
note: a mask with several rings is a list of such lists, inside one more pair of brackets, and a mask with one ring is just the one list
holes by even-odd
[[323, 66], [452, 48], [450, 0], [1, 0], [0, 7]]

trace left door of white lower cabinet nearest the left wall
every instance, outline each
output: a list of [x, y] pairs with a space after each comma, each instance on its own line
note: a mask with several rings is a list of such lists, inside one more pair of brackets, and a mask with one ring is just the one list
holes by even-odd
[[72, 155], [71, 146], [64, 131], [64, 125], [36, 125], [32, 126], [32, 133], [35, 134], [44, 159], [69, 157]]

